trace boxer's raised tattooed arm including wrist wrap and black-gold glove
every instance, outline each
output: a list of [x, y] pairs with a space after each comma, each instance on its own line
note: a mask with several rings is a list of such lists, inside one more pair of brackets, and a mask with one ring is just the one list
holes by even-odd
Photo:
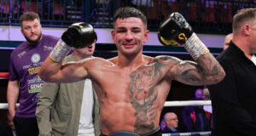
[[196, 63], [180, 61], [172, 67], [171, 74], [169, 74], [175, 80], [189, 85], [206, 85], [224, 79], [224, 69], [196, 36], [182, 14], [173, 13], [164, 20], [160, 24], [158, 37], [160, 42], [166, 46], [184, 44], [184, 48], [195, 59]]

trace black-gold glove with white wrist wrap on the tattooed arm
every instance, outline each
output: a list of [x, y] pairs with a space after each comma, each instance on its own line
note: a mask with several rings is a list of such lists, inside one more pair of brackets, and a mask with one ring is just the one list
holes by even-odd
[[208, 48], [195, 35], [183, 15], [177, 12], [172, 13], [166, 20], [160, 23], [158, 38], [166, 46], [184, 44], [184, 48], [195, 60], [201, 54], [209, 53]]

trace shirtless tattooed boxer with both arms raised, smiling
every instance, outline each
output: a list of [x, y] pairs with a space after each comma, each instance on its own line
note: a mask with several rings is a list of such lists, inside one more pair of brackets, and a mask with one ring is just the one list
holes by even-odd
[[[185, 26], [180, 25], [180, 21], [186, 23]], [[127, 132], [133, 133], [131, 135], [161, 135], [160, 112], [172, 80], [189, 85], [205, 85], [219, 82], [225, 75], [218, 61], [195, 36], [181, 14], [171, 14], [170, 20], [165, 22], [163, 28], [169, 29], [170, 35], [160, 31], [161, 42], [168, 45], [166, 37], [170, 36], [176, 38], [173, 39], [177, 43], [183, 43], [183, 40], [177, 39], [177, 32], [190, 35], [192, 39], [189, 36], [185, 46], [200, 42], [200, 45], [190, 47], [190, 50], [187, 48], [197, 63], [166, 55], [155, 58], [143, 55], [143, 43], [148, 41], [149, 33], [145, 15], [137, 8], [119, 8], [114, 15], [111, 31], [113, 42], [118, 48], [117, 57], [95, 57], [61, 65], [61, 60], [71, 48], [69, 46], [77, 47], [73, 39], [67, 38], [67, 35], [73, 35], [68, 34], [68, 28], [44, 61], [39, 75], [46, 82], [78, 82], [90, 78], [101, 106], [102, 135], [116, 132], [122, 136], [124, 133], [129, 135]], [[172, 29], [177, 28], [180, 30], [173, 32]], [[189, 33], [184, 34], [186, 31]]]

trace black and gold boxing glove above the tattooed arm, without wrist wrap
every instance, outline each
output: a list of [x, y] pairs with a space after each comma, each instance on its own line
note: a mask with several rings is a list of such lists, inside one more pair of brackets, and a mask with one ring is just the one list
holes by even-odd
[[193, 30], [182, 14], [172, 13], [160, 23], [158, 38], [166, 46], [181, 45], [191, 37]]

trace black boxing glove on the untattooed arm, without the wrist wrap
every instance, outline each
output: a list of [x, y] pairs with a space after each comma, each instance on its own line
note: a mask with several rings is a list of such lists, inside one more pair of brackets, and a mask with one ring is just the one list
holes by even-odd
[[96, 42], [97, 35], [90, 24], [84, 22], [74, 23], [67, 28], [61, 36], [63, 42], [73, 48], [84, 48]]

